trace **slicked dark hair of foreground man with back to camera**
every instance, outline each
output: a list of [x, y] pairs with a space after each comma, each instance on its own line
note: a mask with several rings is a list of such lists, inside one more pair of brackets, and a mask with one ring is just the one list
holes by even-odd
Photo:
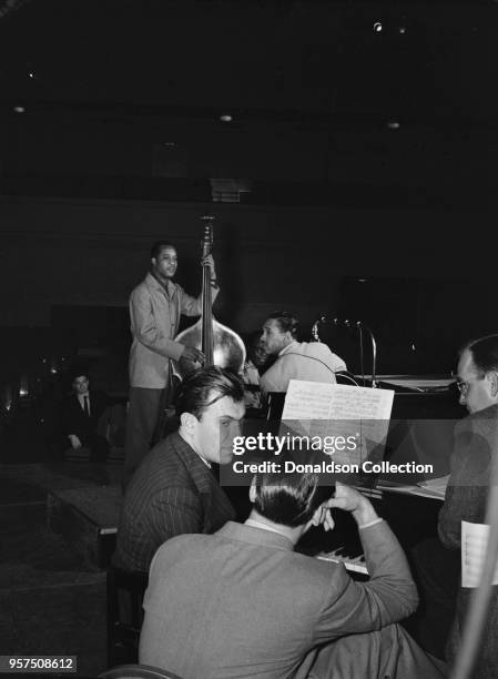
[[255, 510], [274, 524], [304, 526], [327, 500], [334, 486], [319, 486], [317, 474], [256, 475]]

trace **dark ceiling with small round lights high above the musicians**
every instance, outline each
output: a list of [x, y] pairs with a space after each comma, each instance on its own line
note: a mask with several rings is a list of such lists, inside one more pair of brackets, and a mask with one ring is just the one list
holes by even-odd
[[[232, 178], [263, 202], [487, 204], [497, 12], [479, 0], [0, 1], [4, 192], [74, 193], [87, 178], [88, 194], [118, 182], [124, 197], [182, 186], [195, 200], [193, 184], [204, 196], [203, 182]], [[123, 178], [140, 179], [139, 195]]]

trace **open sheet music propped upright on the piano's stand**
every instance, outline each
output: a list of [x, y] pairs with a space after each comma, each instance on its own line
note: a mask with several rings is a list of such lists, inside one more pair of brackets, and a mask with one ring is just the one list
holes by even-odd
[[291, 379], [282, 424], [308, 436], [355, 436], [359, 442], [356, 452], [337, 452], [335, 459], [360, 464], [385, 444], [393, 398], [392, 389]]

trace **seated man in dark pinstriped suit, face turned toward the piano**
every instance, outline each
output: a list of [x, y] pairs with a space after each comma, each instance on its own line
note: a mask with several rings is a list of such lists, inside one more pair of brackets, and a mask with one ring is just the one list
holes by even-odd
[[182, 384], [180, 428], [150, 450], [124, 495], [114, 565], [148, 571], [155, 550], [182, 533], [214, 533], [235, 513], [211, 466], [228, 464], [245, 413], [244, 385], [220, 367]]

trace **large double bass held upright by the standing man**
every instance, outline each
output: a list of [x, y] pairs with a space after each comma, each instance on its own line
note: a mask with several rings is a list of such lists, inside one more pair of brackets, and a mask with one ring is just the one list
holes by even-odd
[[[202, 259], [213, 250], [213, 216], [204, 216], [204, 235], [202, 240]], [[202, 267], [202, 313], [194, 325], [182, 331], [175, 337], [185, 346], [201, 349], [205, 356], [204, 367], [218, 365], [242, 373], [245, 363], [245, 346], [242, 338], [230, 327], [223, 325], [213, 316], [211, 267]], [[199, 363], [180, 359], [174, 366], [175, 374], [183, 379], [189, 373], [199, 368]]]

